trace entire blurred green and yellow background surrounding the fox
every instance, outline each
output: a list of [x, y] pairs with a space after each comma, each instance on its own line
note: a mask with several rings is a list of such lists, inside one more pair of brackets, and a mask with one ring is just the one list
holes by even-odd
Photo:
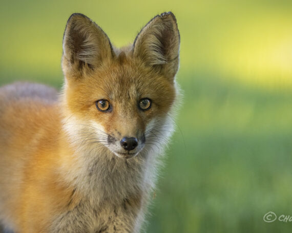
[[0, 84], [60, 88], [71, 13], [116, 46], [173, 11], [181, 34], [183, 104], [147, 232], [291, 232], [291, 1], [2, 1]]

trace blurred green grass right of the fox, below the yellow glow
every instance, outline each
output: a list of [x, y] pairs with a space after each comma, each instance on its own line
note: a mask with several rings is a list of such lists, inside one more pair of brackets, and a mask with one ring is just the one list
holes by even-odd
[[291, 213], [291, 93], [243, 88], [210, 74], [181, 84], [181, 132], [149, 232], [290, 232], [290, 223], [265, 223], [263, 216]]

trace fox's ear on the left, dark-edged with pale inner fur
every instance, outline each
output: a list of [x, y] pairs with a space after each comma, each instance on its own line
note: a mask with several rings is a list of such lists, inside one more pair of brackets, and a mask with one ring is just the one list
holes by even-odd
[[107, 34], [87, 16], [72, 14], [63, 38], [63, 71], [94, 69], [112, 56], [113, 49]]

